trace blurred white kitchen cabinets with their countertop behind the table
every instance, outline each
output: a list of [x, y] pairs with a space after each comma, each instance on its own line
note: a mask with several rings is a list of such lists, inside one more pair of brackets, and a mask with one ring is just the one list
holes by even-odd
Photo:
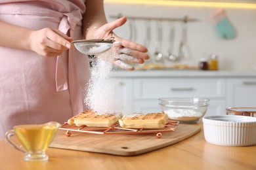
[[256, 72], [134, 71], [116, 76], [129, 112], [161, 112], [161, 97], [210, 99], [206, 115], [226, 114], [226, 107], [256, 107]]

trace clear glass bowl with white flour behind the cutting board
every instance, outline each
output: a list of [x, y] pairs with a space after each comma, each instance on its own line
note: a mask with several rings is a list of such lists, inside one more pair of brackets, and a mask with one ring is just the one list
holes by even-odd
[[204, 98], [160, 98], [159, 105], [169, 119], [185, 124], [196, 124], [207, 112], [209, 99]]

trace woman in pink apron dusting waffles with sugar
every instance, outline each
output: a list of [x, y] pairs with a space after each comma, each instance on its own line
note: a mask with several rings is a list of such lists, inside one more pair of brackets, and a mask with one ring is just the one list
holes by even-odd
[[[115, 37], [113, 61], [148, 59], [144, 46], [117, 37], [103, 0], [3, 0], [0, 2], [0, 139], [17, 124], [66, 122], [83, 107], [89, 61], [71, 41]], [[129, 50], [122, 50], [122, 49]], [[128, 59], [128, 58], [127, 58]]]

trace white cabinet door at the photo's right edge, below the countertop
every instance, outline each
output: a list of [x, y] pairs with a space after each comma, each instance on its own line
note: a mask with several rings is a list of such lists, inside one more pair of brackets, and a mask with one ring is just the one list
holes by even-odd
[[228, 107], [256, 107], [256, 78], [228, 78]]

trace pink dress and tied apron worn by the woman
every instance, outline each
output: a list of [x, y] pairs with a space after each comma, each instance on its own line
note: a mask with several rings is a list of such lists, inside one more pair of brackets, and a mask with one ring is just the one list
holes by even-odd
[[[1, 21], [59, 29], [74, 40], [83, 39], [84, 13], [85, 0], [0, 1]], [[89, 61], [74, 46], [56, 58], [0, 46], [0, 139], [15, 125], [62, 124], [84, 110], [88, 78]]]

